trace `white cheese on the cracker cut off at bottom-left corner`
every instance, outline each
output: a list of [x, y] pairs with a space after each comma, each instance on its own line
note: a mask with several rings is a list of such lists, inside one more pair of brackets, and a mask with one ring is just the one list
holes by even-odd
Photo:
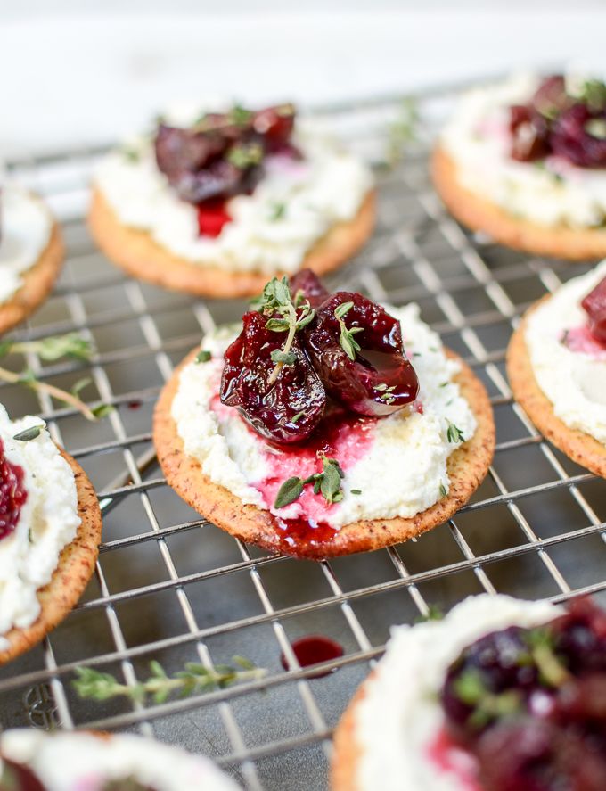
[[155, 791], [238, 788], [206, 758], [130, 734], [105, 738], [8, 730], [0, 737], [0, 750], [9, 760], [27, 764], [48, 791], [101, 791], [106, 781], [128, 777]]

